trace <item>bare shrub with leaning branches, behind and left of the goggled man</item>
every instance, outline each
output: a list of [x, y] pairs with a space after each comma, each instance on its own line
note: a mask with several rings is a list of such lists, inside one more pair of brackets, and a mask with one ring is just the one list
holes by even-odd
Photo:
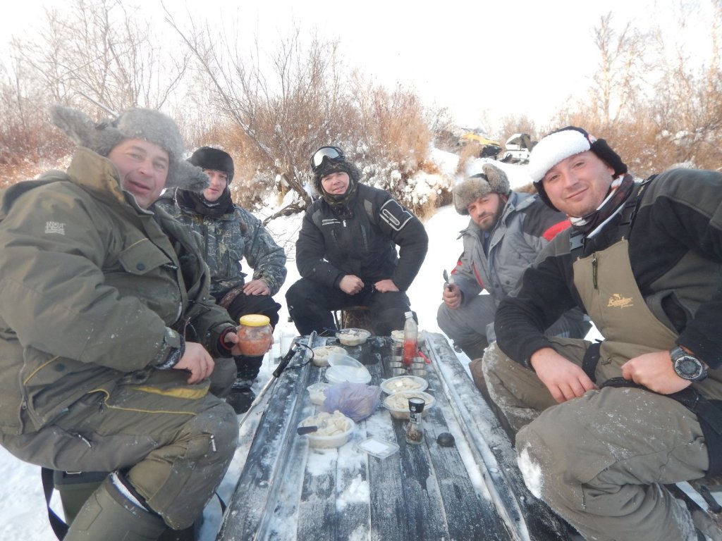
[[352, 125], [349, 119], [355, 115], [346, 99], [338, 43], [312, 36], [303, 45], [300, 29], [295, 28], [269, 58], [258, 38], [254, 50], [244, 56], [228, 42], [216, 43], [208, 28], [183, 30], [166, 13], [206, 77], [216, 117], [232, 120], [243, 131], [258, 167], [274, 172], [280, 190], [290, 188], [299, 195], [300, 202], [269, 219], [303, 210], [311, 201], [310, 153], [329, 141], [347, 141], [344, 126]]

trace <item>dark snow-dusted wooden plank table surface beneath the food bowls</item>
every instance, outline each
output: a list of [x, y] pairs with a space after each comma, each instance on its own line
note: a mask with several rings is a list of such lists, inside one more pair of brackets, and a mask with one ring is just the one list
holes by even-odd
[[[374, 337], [347, 348], [367, 364], [371, 384], [385, 375], [379, 361], [388, 342]], [[217, 540], [565, 539], [548, 509], [530, 501], [521, 476], [500, 471], [513, 449], [445, 338], [429, 335], [425, 349], [432, 359], [428, 392], [437, 403], [420, 445], [406, 444], [405, 421], [380, 408], [357, 423], [349, 444], [308, 447], [295, 428], [316, 413], [305, 389], [323, 380], [325, 369], [309, 364], [284, 372], [269, 391]], [[454, 447], [437, 443], [442, 432], [455, 436]], [[396, 441], [399, 452], [380, 459], [358, 451], [367, 436]], [[529, 535], [527, 521], [534, 529], [541, 524], [541, 533]]]

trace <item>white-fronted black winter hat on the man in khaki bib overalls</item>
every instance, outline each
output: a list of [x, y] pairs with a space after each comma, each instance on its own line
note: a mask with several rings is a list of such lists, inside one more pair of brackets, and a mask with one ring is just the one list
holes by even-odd
[[612, 167], [615, 177], [624, 175], [627, 172], [627, 164], [622, 162], [619, 154], [612, 150], [612, 147], [604, 139], [598, 139], [576, 126], [567, 126], [552, 131], [534, 146], [526, 170], [529, 172], [531, 180], [534, 181], [534, 186], [539, 192], [539, 198], [544, 203], [547, 203], [547, 206], [554, 208], [555, 211], [557, 210], [544, 191], [544, 175], [562, 159], [567, 159], [588, 150], [591, 150], [596, 154], [596, 157], [609, 167]]

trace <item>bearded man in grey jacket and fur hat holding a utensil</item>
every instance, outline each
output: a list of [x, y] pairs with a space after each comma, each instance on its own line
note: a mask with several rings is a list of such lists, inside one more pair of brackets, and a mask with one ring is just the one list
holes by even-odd
[[[476, 170], [453, 188], [454, 207], [458, 214], [469, 216], [469, 225], [461, 231], [464, 252], [451, 271], [451, 283], [443, 289], [437, 322], [469, 356], [474, 382], [485, 392], [481, 361], [484, 349], [495, 340], [499, 303], [549, 240], [570, 224], [536, 195], [512, 191], [500, 167], [481, 160], [471, 167]], [[488, 295], [480, 294], [484, 289]], [[575, 309], [546, 332], [583, 338], [588, 329], [583, 314]]]

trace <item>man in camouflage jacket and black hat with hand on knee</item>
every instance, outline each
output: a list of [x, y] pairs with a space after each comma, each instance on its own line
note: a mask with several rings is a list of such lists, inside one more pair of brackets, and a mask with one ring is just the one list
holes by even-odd
[[[230, 183], [235, 167], [226, 151], [202, 146], [188, 162], [201, 167], [210, 185], [193, 190], [166, 190], [156, 203], [178, 221], [191, 227], [204, 240], [205, 259], [211, 269], [211, 294], [238, 322], [241, 316], [261, 314], [271, 327], [278, 323], [281, 305], [271, 297], [286, 279], [286, 254], [274, 242], [261, 220], [233, 204]], [[253, 268], [253, 279], [245, 281], [241, 260]], [[236, 413], [250, 408], [256, 395], [251, 386], [258, 377], [264, 357], [235, 357], [236, 379], [227, 402]]]

